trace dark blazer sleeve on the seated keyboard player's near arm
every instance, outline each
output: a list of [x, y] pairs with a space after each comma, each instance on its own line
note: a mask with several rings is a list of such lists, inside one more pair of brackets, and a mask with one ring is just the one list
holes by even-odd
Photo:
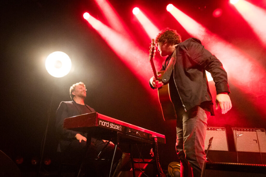
[[81, 132], [64, 129], [63, 124], [65, 118], [68, 118], [68, 111], [66, 103], [62, 101], [56, 111], [56, 132], [60, 136], [60, 139], [71, 141], [75, 139], [77, 133], [83, 135]]

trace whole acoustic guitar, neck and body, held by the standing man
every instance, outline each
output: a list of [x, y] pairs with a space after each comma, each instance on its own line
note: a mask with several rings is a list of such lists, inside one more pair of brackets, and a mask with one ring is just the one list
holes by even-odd
[[[155, 55], [155, 41], [154, 39], [152, 39], [152, 43], [151, 43], [150, 50], [149, 50], [149, 61], [151, 63], [151, 67], [152, 67], [152, 71], [153, 71], [153, 75], [155, 79], [162, 81], [161, 79], [164, 75], [164, 71], [156, 72], [156, 69], [153, 63], [154, 55]], [[159, 74], [161, 74], [160, 77], [157, 76]], [[158, 88], [157, 90], [158, 90], [159, 103], [161, 105], [164, 120], [176, 120], [176, 113], [175, 113], [174, 105], [171, 100], [170, 92], [169, 92], [169, 83], [164, 83], [164, 85]]]

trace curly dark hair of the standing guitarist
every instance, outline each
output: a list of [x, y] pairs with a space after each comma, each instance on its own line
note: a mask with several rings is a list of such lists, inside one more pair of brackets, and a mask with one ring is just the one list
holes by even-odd
[[161, 44], [166, 42], [169, 45], [176, 45], [181, 42], [181, 36], [174, 29], [165, 28], [156, 36], [155, 42], [160, 42]]

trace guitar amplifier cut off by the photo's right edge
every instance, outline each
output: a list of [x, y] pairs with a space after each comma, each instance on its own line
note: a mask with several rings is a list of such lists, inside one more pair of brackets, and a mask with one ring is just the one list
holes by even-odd
[[266, 153], [266, 133], [263, 128], [232, 128], [236, 151]]

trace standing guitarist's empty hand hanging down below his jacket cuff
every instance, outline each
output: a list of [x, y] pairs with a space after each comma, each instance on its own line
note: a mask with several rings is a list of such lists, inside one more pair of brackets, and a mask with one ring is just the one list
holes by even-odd
[[232, 108], [232, 103], [228, 94], [217, 94], [215, 102], [216, 109], [221, 107], [222, 114], [227, 113]]

